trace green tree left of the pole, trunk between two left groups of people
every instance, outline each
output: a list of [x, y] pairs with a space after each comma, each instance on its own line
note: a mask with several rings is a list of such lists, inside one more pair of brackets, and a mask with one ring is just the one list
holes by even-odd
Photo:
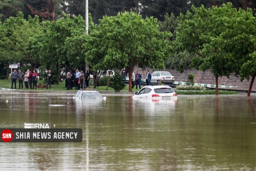
[[31, 39], [31, 52], [38, 56], [42, 64], [49, 68], [56, 68], [57, 84], [59, 84], [60, 67], [68, 61], [65, 42], [74, 34], [81, 33], [84, 29], [84, 20], [81, 16], [70, 19], [67, 14], [63, 14], [63, 19], [45, 21], [42, 25], [43, 33]]

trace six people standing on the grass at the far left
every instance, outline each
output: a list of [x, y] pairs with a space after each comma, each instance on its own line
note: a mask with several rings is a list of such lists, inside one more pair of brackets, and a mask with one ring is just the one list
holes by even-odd
[[[36, 89], [37, 87], [37, 77], [38, 74], [36, 72], [36, 70], [28, 70], [27, 72], [25, 72], [25, 74], [22, 72], [22, 70], [19, 70], [19, 73], [17, 73], [17, 70], [13, 70], [12, 74], [11, 74], [11, 79], [12, 79], [12, 89], [13, 89], [13, 83], [16, 89], [16, 82], [17, 80], [19, 80], [19, 89], [23, 88], [23, 80], [25, 83], [25, 88], [31, 88], [31, 89]], [[51, 89], [51, 82], [52, 82], [52, 73], [51, 70], [49, 70], [49, 72], [47, 73], [47, 87], [49, 86], [49, 89]], [[33, 84], [33, 86], [32, 86]]]

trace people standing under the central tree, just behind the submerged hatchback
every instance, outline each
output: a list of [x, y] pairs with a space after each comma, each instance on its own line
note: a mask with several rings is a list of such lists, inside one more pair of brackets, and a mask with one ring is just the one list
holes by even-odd
[[[150, 81], [151, 81], [151, 74], [150, 72], [147, 70], [146, 71], [147, 73], [147, 76], [146, 76], [146, 83], [147, 83], [147, 86], [150, 86]], [[125, 72], [125, 67], [123, 68], [122, 70], [122, 77], [123, 77], [123, 80], [126, 80], [126, 72]], [[134, 72], [132, 72], [132, 88], [134, 87], [134, 82], [135, 82], [135, 86], [136, 86], [136, 89], [138, 89], [138, 86], [139, 88], [141, 89], [141, 74], [140, 74], [140, 71], [137, 71], [137, 74], [135, 75]]]

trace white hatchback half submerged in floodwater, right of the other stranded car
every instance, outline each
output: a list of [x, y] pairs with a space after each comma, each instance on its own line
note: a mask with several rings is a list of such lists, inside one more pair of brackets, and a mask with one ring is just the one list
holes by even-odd
[[139, 92], [135, 92], [132, 98], [140, 99], [177, 99], [177, 94], [172, 87], [167, 85], [162, 86], [145, 86]]

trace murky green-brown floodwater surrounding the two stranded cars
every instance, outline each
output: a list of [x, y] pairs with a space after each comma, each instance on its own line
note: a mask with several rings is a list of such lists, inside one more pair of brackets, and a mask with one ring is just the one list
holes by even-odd
[[[0, 143], [0, 170], [256, 170], [256, 95], [73, 100], [75, 92], [0, 91], [0, 128], [50, 122], [81, 143]], [[61, 104], [65, 106], [49, 106]]]

